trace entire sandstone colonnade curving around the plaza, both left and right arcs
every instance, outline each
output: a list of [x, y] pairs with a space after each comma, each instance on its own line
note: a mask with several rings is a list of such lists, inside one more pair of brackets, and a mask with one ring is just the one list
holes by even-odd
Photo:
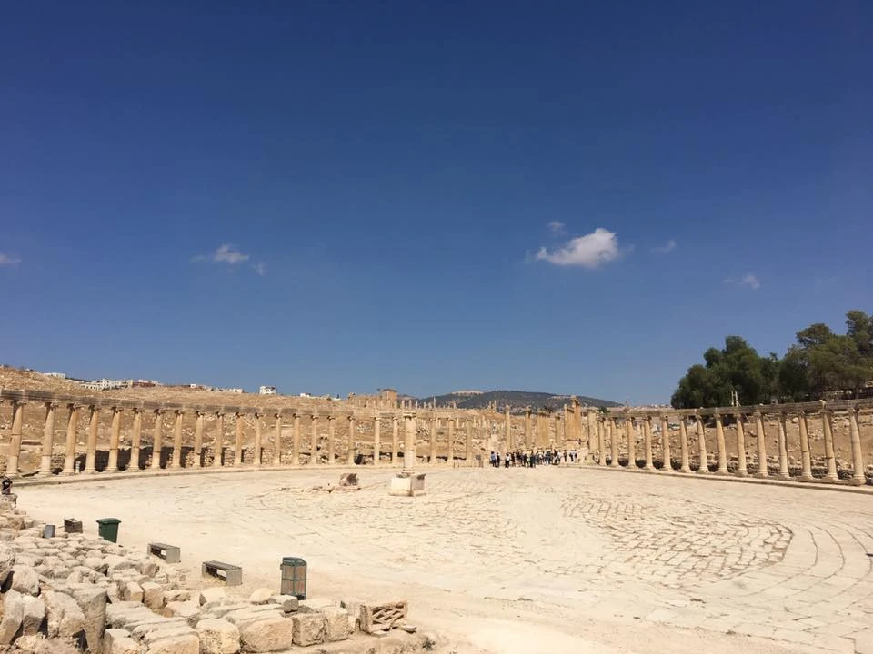
[[[93, 473], [98, 469], [97, 441], [101, 417], [109, 418], [108, 457], [101, 457], [102, 471], [179, 469], [186, 465], [183, 459], [184, 450], [191, 450], [193, 461], [191, 466], [201, 468], [207, 464], [212, 468], [226, 465], [235, 467], [247, 465], [253, 468], [261, 466], [301, 465], [306, 455], [303, 446], [304, 431], [308, 436], [308, 462], [313, 465], [325, 463], [354, 464], [364, 461], [372, 454], [374, 463], [379, 464], [382, 458], [384, 424], [390, 422], [391, 448], [387, 452], [388, 461], [398, 464], [400, 450], [400, 421], [405, 421], [404, 433], [412, 429], [416, 435], [422, 419], [429, 429], [425, 429], [425, 450], [427, 459], [437, 461], [437, 445], [439, 442], [440, 424], [446, 423], [447, 442], [444, 443], [447, 461], [455, 461], [456, 456], [467, 462], [472, 462], [478, 453], [485, 453], [474, 444], [474, 430], [484, 428], [488, 422], [478, 420], [477, 416], [463, 411], [334, 411], [319, 412], [317, 410], [301, 411], [287, 408], [270, 407], [186, 407], [170, 404], [137, 403], [134, 401], [105, 401], [88, 398], [63, 398], [40, 391], [9, 391], [0, 389], [0, 404], [12, 407], [9, 444], [6, 456], [7, 474], [17, 474], [21, 456], [24, 415], [26, 411], [41, 411], [44, 419], [42, 447], [38, 471], [40, 474], [51, 474], [60, 470], [61, 474], [75, 473], [77, 457], [84, 455], [82, 472]], [[571, 406], [563, 412], [537, 411], [536, 434], [534, 432], [534, 412], [527, 407], [524, 411], [524, 431], [516, 438], [513, 432], [512, 416], [509, 407], [505, 407], [503, 442], [498, 448], [501, 451], [512, 451], [517, 448], [537, 450], [544, 447], [578, 446], [585, 449], [587, 436], [588, 461], [611, 468], [646, 471], [691, 472], [692, 458], [697, 455], [696, 471], [699, 474], [733, 474], [740, 477], [754, 475], [757, 477], [774, 477], [778, 479], [796, 479], [798, 481], [838, 481], [837, 447], [833, 428], [834, 416], [844, 417], [848, 421], [848, 442], [842, 445], [851, 452], [851, 469], [843, 471], [848, 476], [848, 482], [865, 483], [864, 456], [860, 439], [861, 411], [873, 410], [873, 400], [858, 401], [828, 401], [805, 402], [798, 404], [773, 404], [751, 407], [724, 407], [698, 410], [643, 410], [643, 411], [595, 411], [582, 408], [574, 399]], [[584, 415], [583, 415], [584, 413]], [[151, 427], [151, 459], [147, 456], [147, 444], [143, 445], [144, 416], [152, 418]], [[193, 416], [194, 447], [183, 447], [184, 421]], [[205, 447], [206, 417], [213, 421], [212, 445]], [[86, 418], [85, 451], [79, 451], [79, 425]], [[730, 417], [736, 423], [733, 438], [736, 439], [738, 455], [736, 460], [728, 461], [725, 420]], [[670, 419], [678, 419], [677, 435], [671, 435]], [[769, 419], [769, 420], [768, 420]], [[792, 445], [797, 445], [800, 452], [799, 466], [791, 469], [788, 461], [789, 435], [787, 421], [797, 421], [796, 435], [792, 435]], [[66, 421], [65, 448], [63, 466], [53, 466], [55, 433], [58, 421]], [[234, 421], [232, 441], [226, 439], [225, 423]], [[412, 421], [411, 423], [409, 421]], [[128, 422], [129, 421], [129, 422]], [[246, 441], [246, 422], [254, 423], [254, 446], [248, 452], [244, 448]], [[265, 423], [266, 421], [266, 423]], [[286, 422], [290, 421], [291, 438], [283, 437]], [[322, 433], [323, 422], [326, 421], [326, 435]], [[343, 452], [337, 448], [336, 421], [345, 421], [347, 448], [345, 460], [340, 461]], [[358, 424], [372, 421], [372, 443], [363, 443], [358, 436]], [[812, 471], [812, 455], [810, 453], [810, 421], [818, 421], [821, 425], [824, 444], [823, 476], [815, 478]], [[129, 463], [122, 465], [124, 451], [121, 446], [123, 424], [129, 424], [128, 431]], [[272, 424], [272, 429], [270, 429]], [[410, 427], [410, 424], [412, 425]], [[498, 422], [490, 422], [492, 435], [497, 437]], [[767, 433], [767, 429], [776, 433]], [[266, 429], [265, 429], [266, 427]], [[497, 430], [497, 431], [496, 431]], [[707, 451], [707, 430], [714, 431], [715, 450]], [[748, 430], [748, 431], [747, 431]], [[660, 461], [655, 461], [653, 441], [656, 432], [660, 433]], [[587, 432], [587, 434], [585, 433]], [[554, 434], [554, 437], [550, 437]], [[457, 439], [462, 439], [462, 452], [456, 452]], [[774, 461], [768, 467], [768, 437], [776, 442], [775, 451], [769, 452]], [[775, 437], [775, 438], [774, 438]], [[678, 448], [674, 450], [675, 439]], [[755, 441], [753, 455], [747, 457], [747, 440]], [[796, 439], [796, 440], [795, 440]], [[126, 440], [126, 439], [125, 439]], [[519, 442], [516, 442], [516, 441]], [[290, 441], [290, 442], [288, 442]], [[324, 442], [326, 441], [326, 443]], [[428, 442], [429, 441], [429, 442]], [[638, 441], [642, 441], [641, 451], [638, 451]], [[405, 436], [406, 442], [406, 436]], [[211, 447], [212, 461], [207, 461], [206, 452]], [[233, 459], [225, 459], [227, 448], [233, 447]], [[370, 452], [370, 447], [372, 451]], [[487, 446], [486, 446], [487, 447]], [[265, 451], [272, 449], [272, 458], [265, 461]], [[403, 458], [414, 455], [414, 449], [407, 452], [404, 447]], [[250, 453], [244, 461], [244, 450]], [[285, 456], [283, 457], [283, 452]], [[144, 457], [143, 454], [146, 453]], [[165, 456], [166, 454], [166, 456]], [[757, 461], [756, 461], [757, 459]], [[624, 460], [624, 461], [623, 461]], [[778, 462], [777, 462], [778, 461]], [[730, 465], [728, 466], [728, 463]], [[657, 464], [657, 465], [656, 465]], [[821, 473], [819, 473], [821, 475]]]

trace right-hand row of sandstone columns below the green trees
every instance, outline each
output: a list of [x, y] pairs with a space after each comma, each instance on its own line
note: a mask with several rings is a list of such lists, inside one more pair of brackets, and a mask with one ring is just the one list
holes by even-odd
[[[853, 484], [863, 484], [865, 483], [864, 477], [864, 461], [863, 461], [863, 452], [861, 451], [861, 441], [860, 441], [860, 430], [858, 426], [858, 409], [851, 407], [846, 413], [848, 414], [849, 421], [849, 441], [852, 452], [852, 476], [850, 478], [850, 482]], [[800, 447], [800, 460], [801, 460], [801, 470], [800, 476], [798, 479], [800, 481], [812, 481], [812, 465], [811, 465], [811, 457], [809, 452], [809, 430], [808, 430], [808, 417], [812, 415], [807, 411], [794, 411], [794, 414], [798, 417], [798, 440]], [[742, 414], [731, 414], [737, 423], [737, 452], [738, 452], [738, 461], [737, 461], [737, 470], [734, 474], [739, 477], [748, 476], [748, 461], [746, 456], [746, 416]], [[786, 418], [787, 413], [784, 411], [778, 411], [775, 413], [778, 424], [778, 459], [779, 459], [779, 471], [777, 474], [778, 478], [788, 479], [790, 478], [790, 471], [788, 469], [788, 431], [786, 429]], [[824, 446], [825, 446], [825, 461], [827, 464], [827, 471], [822, 481], [837, 481], [838, 480], [838, 472], [837, 472], [837, 459], [835, 455], [834, 449], [834, 437], [833, 437], [833, 423], [832, 423], [832, 411], [829, 411], [824, 404], [822, 405], [822, 409], [818, 411], [818, 417], [822, 421], [822, 433], [824, 436]], [[591, 425], [592, 413], [589, 413], [589, 425]], [[724, 428], [724, 416], [720, 413], [716, 413], [713, 416], [715, 421], [715, 430], [716, 430], [716, 443], [717, 443], [717, 474], [728, 474], [728, 449], [725, 441], [725, 428]], [[627, 467], [628, 468], [637, 468], [637, 451], [636, 451], [636, 421], [637, 418], [633, 416], [625, 416], [623, 417], [625, 422], [625, 435], [624, 438], [627, 442]], [[660, 416], [645, 416], [639, 419], [642, 422], [642, 431], [643, 431], [643, 469], [647, 471], [654, 471], [655, 463], [652, 457], [652, 438], [653, 438], [653, 421], [660, 421], [661, 428], [661, 449], [663, 451], [663, 467], [662, 470], [672, 471], [672, 451], [670, 449], [670, 432], [669, 432], [669, 424], [667, 421], [667, 415]], [[706, 426], [703, 422], [703, 419], [700, 416], [694, 416], [694, 420], [697, 427], [697, 451], [699, 455], [700, 465], [698, 467], [697, 472], [701, 474], [707, 474], [709, 472], [708, 467], [708, 455], [707, 455], [707, 441], [706, 441]], [[764, 427], [764, 412], [756, 411], [752, 414], [752, 420], [755, 425], [755, 432], [757, 438], [757, 454], [758, 454], [758, 467], [757, 470], [754, 471], [756, 477], [768, 477], [768, 463], [767, 463], [767, 434]], [[593, 438], [597, 439], [597, 442], [589, 441], [591, 445], [595, 445], [593, 448], [594, 451], [597, 452], [596, 461], [600, 465], [606, 465], [606, 451], [605, 451], [605, 442], [606, 438], [609, 441], [609, 455], [610, 462], [609, 465], [613, 468], [620, 467], [619, 463], [619, 433], [620, 431], [617, 428], [617, 419], [615, 417], [604, 417], [600, 420], [595, 421], [593, 425], [590, 427], [589, 431], [589, 439], [592, 439], [592, 434], [596, 434]], [[679, 471], [680, 472], [690, 472], [691, 466], [689, 461], [689, 444], [688, 444], [688, 434], [687, 434], [687, 424], [684, 417], [679, 420], [679, 446], [680, 446], [680, 463], [679, 463]], [[590, 446], [589, 446], [590, 447]]]

